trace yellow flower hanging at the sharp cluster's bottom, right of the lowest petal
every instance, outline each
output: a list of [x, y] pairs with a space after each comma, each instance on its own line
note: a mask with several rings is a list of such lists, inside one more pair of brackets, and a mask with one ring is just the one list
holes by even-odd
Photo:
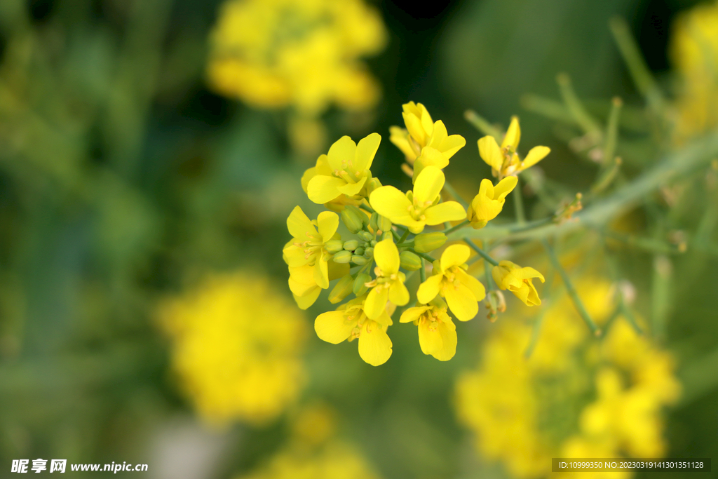
[[456, 325], [447, 315], [447, 304], [434, 298], [431, 304], [410, 307], [399, 322], [414, 322], [419, 326], [421, 352], [439, 361], [449, 361], [456, 354]]

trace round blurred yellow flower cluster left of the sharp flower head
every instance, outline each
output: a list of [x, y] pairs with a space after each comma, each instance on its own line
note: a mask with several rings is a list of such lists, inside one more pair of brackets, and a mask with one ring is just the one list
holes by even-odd
[[261, 275], [211, 276], [162, 303], [159, 321], [180, 386], [209, 422], [263, 424], [297, 399], [304, 319]]

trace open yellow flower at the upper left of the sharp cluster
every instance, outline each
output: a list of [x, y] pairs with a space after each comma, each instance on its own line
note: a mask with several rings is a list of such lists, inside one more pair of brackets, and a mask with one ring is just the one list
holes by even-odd
[[[326, 159], [317, 160], [314, 176], [307, 182], [307, 195], [314, 203], [327, 203], [340, 195], [366, 197], [367, 182], [371, 180], [371, 163], [379, 148], [381, 136], [370, 134], [355, 142], [342, 136], [329, 149]], [[325, 164], [326, 162], [326, 164]]]

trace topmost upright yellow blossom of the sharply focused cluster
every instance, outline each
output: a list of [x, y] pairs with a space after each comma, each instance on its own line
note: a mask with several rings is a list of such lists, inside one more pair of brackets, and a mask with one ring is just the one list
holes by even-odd
[[402, 108], [406, 129], [392, 126], [389, 140], [404, 153], [406, 162], [414, 165], [414, 180], [424, 167], [447, 167], [449, 159], [466, 145], [464, 137], [449, 136], [444, 122], [432, 122], [432, 116], [421, 103], [410, 101]]

